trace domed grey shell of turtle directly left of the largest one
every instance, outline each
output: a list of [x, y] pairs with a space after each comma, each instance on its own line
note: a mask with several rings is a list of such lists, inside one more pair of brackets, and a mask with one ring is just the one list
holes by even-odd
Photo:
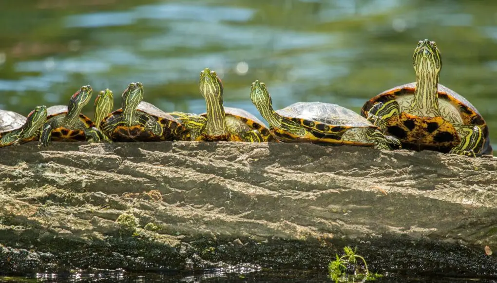
[[375, 128], [366, 118], [337, 104], [324, 102], [297, 102], [276, 113], [304, 127], [307, 134], [303, 137], [292, 135], [283, 129], [271, 127], [275, 136], [283, 141], [316, 141], [351, 145], [363, 144], [357, 141], [341, 141], [342, 134], [350, 128]]

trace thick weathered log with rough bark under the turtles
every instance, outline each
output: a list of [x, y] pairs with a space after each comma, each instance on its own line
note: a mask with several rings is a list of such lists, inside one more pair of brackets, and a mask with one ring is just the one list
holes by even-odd
[[[497, 161], [307, 143], [0, 148], [0, 273], [373, 270], [495, 276]], [[119, 219], [118, 219], [119, 218]]]

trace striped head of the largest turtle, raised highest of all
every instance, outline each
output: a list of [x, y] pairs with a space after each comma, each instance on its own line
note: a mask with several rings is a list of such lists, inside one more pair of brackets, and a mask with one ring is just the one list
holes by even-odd
[[417, 43], [414, 49], [413, 65], [417, 74], [428, 72], [438, 76], [442, 70], [442, 59], [434, 41], [424, 39]]

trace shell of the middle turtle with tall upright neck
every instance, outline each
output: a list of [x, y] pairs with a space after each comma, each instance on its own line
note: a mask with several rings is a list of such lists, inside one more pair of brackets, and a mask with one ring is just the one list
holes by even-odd
[[[260, 135], [264, 139], [264, 141], [269, 141], [269, 142], [278, 142], [276, 138], [274, 138], [273, 135], [271, 135], [271, 132], [269, 131], [269, 128], [262, 123], [257, 117], [253, 116], [251, 113], [248, 111], [241, 109], [241, 108], [234, 108], [234, 107], [224, 107], [225, 114], [227, 116], [232, 116], [242, 123], [245, 123], [250, 130], [257, 130], [259, 131]], [[207, 113], [202, 113], [200, 114], [204, 117], [207, 117]], [[206, 138], [206, 140], [209, 140]], [[215, 140], [212, 141], [243, 141], [241, 137], [239, 136], [234, 136], [231, 134], [227, 134], [225, 136], [220, 136], [216, 137]]]

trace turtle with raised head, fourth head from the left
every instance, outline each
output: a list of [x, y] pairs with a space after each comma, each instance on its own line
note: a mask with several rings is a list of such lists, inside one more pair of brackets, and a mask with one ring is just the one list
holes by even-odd
[[122, 93], [122, 108], [105, 117], [100, 129], [112, 141], [190, 140], [189, 131], [174, 117], [142, 101], [143, 84], [132, 82]]

